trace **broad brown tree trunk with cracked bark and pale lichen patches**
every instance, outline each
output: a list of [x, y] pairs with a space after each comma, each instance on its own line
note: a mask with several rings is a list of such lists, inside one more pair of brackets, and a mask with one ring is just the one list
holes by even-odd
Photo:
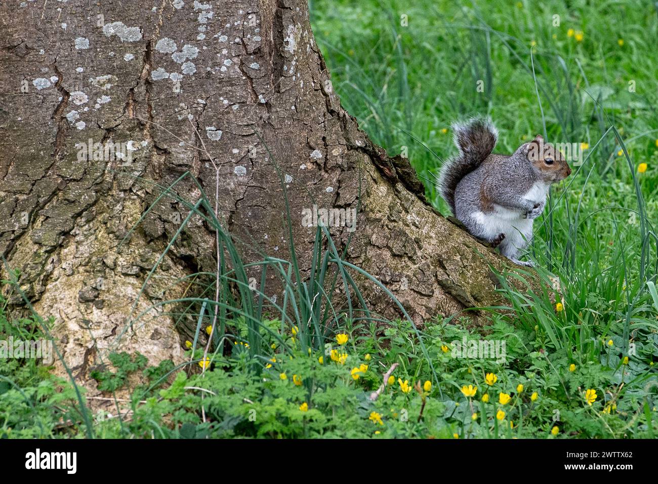
[[[355, 209], [360, 198], [347, 260], [390, 288], [416, 323], [495, 304], [490, 265], [503, 260], [437, 213], [409, 162], [374, 146], [341, 107], [305, 0], [156, 4], [2, 7], [0, 252], [20, 269], [34, 308], [53, 318], [76, 377], [84, 381], [108, 348], [182, 361], [176, 320], [152, 306], [186, 294], [180, 278], [215, 270], [215, 234], [193, 218], [139, 300], [188, 208], [163, 198], [119, 244], [161, 194], [155, 184], [189, 171], [213, 199], [213, 163], [220, 219], [255, 246], [243, 248], [245, 261], [261, 260], [258, 250], [288, 256], [276, 163], [301, 267], [311, 265], [315, 236], [303, 215], [313, 205]], [[127, 144], [122, 159], [85, 159], [107, 142]], [[177, 191], [199, 199], [190, 178]], [[330, 230], [345, 244], [347, 227]], [[0, 274], [8, 277], [5, 267]], [[257, 269], [249, 276], [260, 281]], [[399, 316], [359, 281], [370, 309]], [[15, 291], [11, 304], [18, 314]], [[148, 317], [124, 334], [142, 311]]]

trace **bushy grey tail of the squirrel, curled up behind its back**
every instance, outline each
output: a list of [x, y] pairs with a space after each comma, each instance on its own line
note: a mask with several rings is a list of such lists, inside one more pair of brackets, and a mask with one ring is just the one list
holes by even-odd
[[484, 119], [470, 119], [465, 124], [453, 124], [452, 128], [459, 155], [443, 165], [438, 185], [443, 199], [455, 214], [457, 184], [491, 154], [498, 132], [490, 121]]

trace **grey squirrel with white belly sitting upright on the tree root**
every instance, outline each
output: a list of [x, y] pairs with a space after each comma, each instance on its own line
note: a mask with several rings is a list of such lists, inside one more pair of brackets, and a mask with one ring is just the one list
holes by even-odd
[[495, 155], [498, 132], [490, 121], [453, 124], [459, 155], [442, 168], [440, 192], [453, 214], [473, 236], [518, 259], [532, 239], [532, 222], [544, 211], [552, 183], [570, 175], [559, 150], [537, 135], [512, 155]]

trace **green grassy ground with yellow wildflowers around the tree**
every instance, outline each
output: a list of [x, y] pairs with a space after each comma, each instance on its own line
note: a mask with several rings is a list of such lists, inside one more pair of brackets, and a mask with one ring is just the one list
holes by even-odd
[[[222, 293], [214, 336], [221, 351], [203, 375], [116, 356], [117, 373], [97, 375], [99, 385], [120, 389], [136, 372], [147, 382], [123, 420], [101, 412], [85, 425], [70, 385], [43, 380], [43, 369], [29, 362], [0, 360], [0, 435], [655, 437], [656, 7], [582, 0], [332, 0], [311, 7], [343, 105], [390, 154], [407, 151], [443, 213], [432, 179], [455, 151], [452, 121], [490, 115], [501, 153], [538, 133], [582, 146], [582, 164], [553, 188], [532, 244], [542, 277], [559, 279], [560, 304], [503, 288], [511, 315], [490, 308], [486, 336], [443, 320], [422, 333], [394, 321], [377, 335], [363, 313], [335, 319], [314, 306], [312, 289], [329, 280], [324, 272], [342, 274], [335, 254], [318, 244], [318, 271], [304, 284], [295, 279], [295, 261], [264, 257], [288, 286], [293, 316], [272, 301], [246, 304]], [[228, 235], [222, 244], [236, 267], [222, 281], [246, 287]], [[203, 316], [211, 303], [192, 298], [190, 311]], [[210, 321], [198, 319], [194, 362], [203, 358], [197, 338]], [[0, 323], [5, 336], [16, 328], [36, 335], [34, 321], [9, 324], [0, 311]], [[463, 338], [504, 342], [505, 361], [457, 355]], [[392, 381], [382, 381], [394, 363]], [[163, 375], [175, 377], [173, 385]], [[55, 426], [67, 419], [72, 425]]]

